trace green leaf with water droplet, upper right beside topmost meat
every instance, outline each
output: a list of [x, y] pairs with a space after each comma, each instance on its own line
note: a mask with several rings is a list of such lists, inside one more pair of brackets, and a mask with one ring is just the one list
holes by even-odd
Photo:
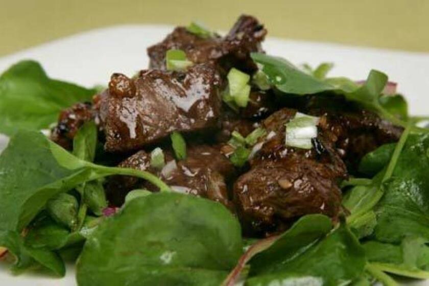
[[335, 87], [305, 73], [289, 61], [261, 53], [252, 53], [253, 61], [262, 65], [262, 71], [277, 89], [285, 93], [314, 94]]

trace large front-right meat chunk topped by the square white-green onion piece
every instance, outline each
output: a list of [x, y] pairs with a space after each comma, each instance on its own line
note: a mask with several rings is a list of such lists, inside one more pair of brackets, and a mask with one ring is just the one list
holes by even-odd
[[338, 181], [347, 177], [346, 166], [322, 133], [309, 150], [284, 145], [284, 125], [295, 114], [283, 108], [261, 123], [268, 134], [260, 138], [250, 171], [234, 184], [234, 203], [248, 234], [282, 231], [308, 213], [338, 217]]

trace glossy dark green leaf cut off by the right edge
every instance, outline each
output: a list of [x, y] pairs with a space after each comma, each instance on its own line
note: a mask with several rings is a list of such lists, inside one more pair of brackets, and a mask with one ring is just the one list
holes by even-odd
[[385, 195], [376, 206], [374, 235], [400, 243], [405, 236], [429, 240], [429, 134], [411, 134], [397, 159]]

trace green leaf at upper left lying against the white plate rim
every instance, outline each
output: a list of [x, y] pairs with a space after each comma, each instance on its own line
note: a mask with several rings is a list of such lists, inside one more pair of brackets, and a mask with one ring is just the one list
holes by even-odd
[[20, 61], [0, 76], [0, 132], [47, 129], [59, 112], [96, 93], [75, 84], [53, 80], [35, 61]]

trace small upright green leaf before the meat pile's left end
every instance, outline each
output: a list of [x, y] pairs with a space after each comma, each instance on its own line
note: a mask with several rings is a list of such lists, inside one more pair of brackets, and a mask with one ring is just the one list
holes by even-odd
[[73, 155], [92, 162], [96, 155], [97, 126], [93, 121], [86, 122], [73, 138]]

